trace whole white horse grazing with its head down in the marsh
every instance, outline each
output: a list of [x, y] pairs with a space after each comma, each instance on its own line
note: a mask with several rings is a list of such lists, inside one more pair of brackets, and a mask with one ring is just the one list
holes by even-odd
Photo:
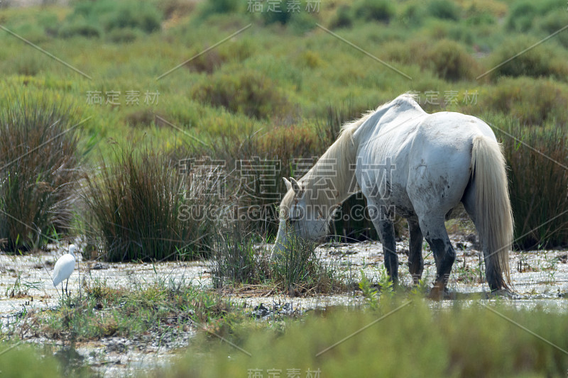
[[403, 94], [346, 124], [304, 177], [284, 181], [288, 192], [280, 204], [273, 258], [290, 250], [292, 238], [327, 235], [334, 211], [361, 191], [393, 282], [398, 281], [393, 213], [398, 213], [408, 220], [414, 282], [424, 270], [426, 238], [437, 269], [432, 294], [441, 294], [456, 257], [444, 221], [461, 202], [479, 233], [491, 291], [508, 289], [513, 216], [505, 160], [493, 131], [479, 118], [429, 114]]

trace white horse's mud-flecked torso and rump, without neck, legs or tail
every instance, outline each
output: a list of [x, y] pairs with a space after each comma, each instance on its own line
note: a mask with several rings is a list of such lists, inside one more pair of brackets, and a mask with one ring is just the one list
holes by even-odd
[[431, 209], [445, 215], [457, 206], [471, 178], [474, 137], [495, 139], [479, 118], [428, 114], [408, 101], [377, 118], [356, 134], [357, 181], [365, 196], [395, 206], [406, 218]]

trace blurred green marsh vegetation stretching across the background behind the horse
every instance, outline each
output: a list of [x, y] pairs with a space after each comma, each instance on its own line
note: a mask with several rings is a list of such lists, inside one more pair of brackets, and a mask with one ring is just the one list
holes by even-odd
[[[77, 130], [83, 150], [97, 142], [90, 167], [114, 162], [117, 143], [150, 146], [173, 162], [221, 158], [229, 169], [259, 157], [282, 162], [273, 189], [282, 193], [293, 158], [320, 155], [341, 123], [415, 91], [426, 111], [469, 113], [493, 126], [510, 165], [519, 247], [568, 243], [568, 30], [532, 47], [568, 25], [564, 0], [302, 1], [296, 12], [287, 11], [293, 1], [282, 1], [280, 13], [264, 2], [252, 11], [253, 3], [0, 9], [0, 106], [41, 96], [68, 106], [73, 119], [91, 116]], [[92, 104], [96, 94], [102, 104]], [[263, 231], [273, 232], [273, 215]], [[366, 227], [340, 223], [336, 232], [356, 236]]]

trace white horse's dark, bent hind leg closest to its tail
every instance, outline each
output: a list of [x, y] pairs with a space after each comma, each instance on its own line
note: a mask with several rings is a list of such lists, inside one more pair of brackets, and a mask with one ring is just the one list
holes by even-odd
[[452, 265], [456, 260], [456, 252], [449, 241], [449, 236], [444, 225], [444, 216], [422, 216], [420, 217], [420, 229], [424, 234], [436, 262], [436, 282], [432, 289], [432, 295], [442, 294], [446, 289], [449, 274], [452, 272]]

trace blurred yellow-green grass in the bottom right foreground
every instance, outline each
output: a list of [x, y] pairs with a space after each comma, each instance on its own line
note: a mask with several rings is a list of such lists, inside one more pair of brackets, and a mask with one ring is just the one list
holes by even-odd
[[[498, 304], [432, 309], [419, 296], [412, 298], [385, 300], [374, 311], [324, 311], [283, 333], [249, 331], [236, 345], [250, 356], [224, 343], [209, 343], [209, 348], [197, 343], [173, 369], [149, 376], [242, 377], [252, 369], [264, 374], [300, 369], [302, 376], [319, 369], [322, 377], [535, 377], [566, 372], [564, 352], [513, 323], [566, 350], [565, 314], [515, 311]], [[389, 315], [391, 311], [396, 312]]]

